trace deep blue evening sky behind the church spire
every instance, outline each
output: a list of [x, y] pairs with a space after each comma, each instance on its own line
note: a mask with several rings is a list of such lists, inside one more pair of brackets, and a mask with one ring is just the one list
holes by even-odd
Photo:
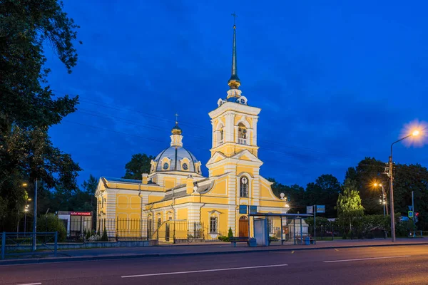
[[[81, 104], [50, 134], [84, 169], [79, 183], [168, 147], [175, 113], [184, 146], [208, 161], [233, 11], [241, 90], [262, 108], [261, 175], [306, 185], [342, 181], [365, 156], [386, 162], [404, 124], [428, 120], [427, 4], [316, 2], [65, 1], [83, 45], [71, 75], [49, 56], [49, 81]], [[394, 161], [428, 166], [428, 147], [397, 145]]]

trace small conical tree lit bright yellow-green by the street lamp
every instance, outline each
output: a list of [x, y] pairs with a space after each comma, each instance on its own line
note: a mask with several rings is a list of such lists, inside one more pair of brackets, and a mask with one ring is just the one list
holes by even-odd
[[361, 204], [360, 194], [355, 181], [345, 180], [342, 186], [342, 193], [337, 198], [337, 217], [342, 222], [349, 222], [350, 232], [352, 231], [352, 220], [364, 214], [364, 207]]

